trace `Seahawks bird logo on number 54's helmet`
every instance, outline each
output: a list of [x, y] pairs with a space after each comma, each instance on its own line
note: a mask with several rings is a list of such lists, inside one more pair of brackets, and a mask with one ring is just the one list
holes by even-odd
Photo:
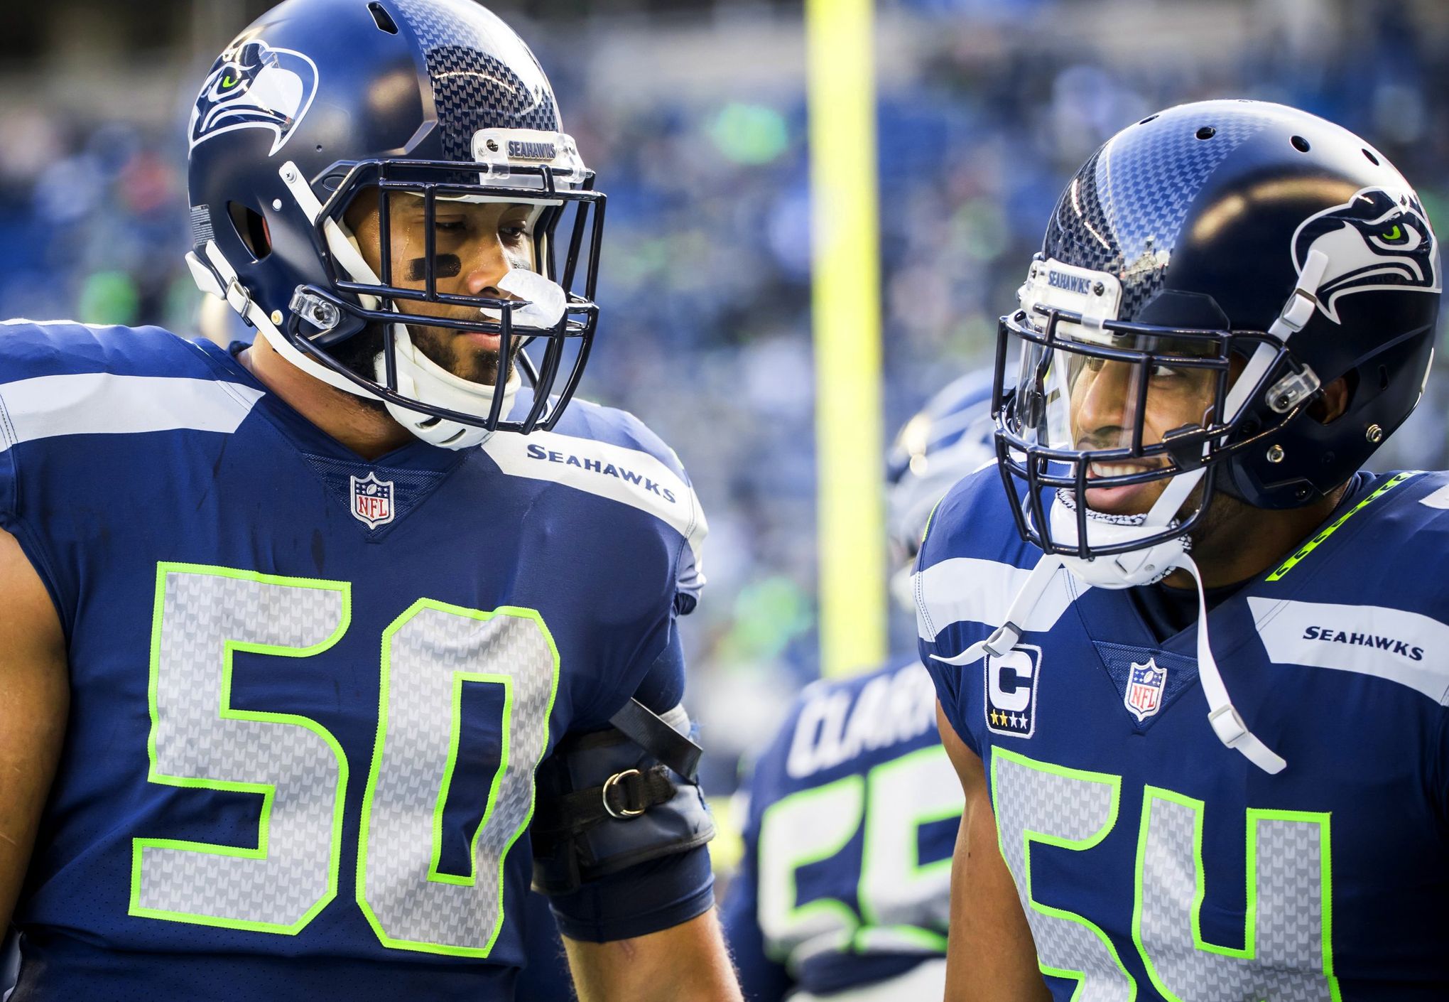
[[1364, 189], [1346, 203], [1308, 216], [1293, 236], [1298, 274], [1310, 251], [1329, 257], [1314, 294], [1335, 323], [1340, 323], [1342, 296], [1371, 289], [1439, 291], [1439, 247], [1413, 191]]

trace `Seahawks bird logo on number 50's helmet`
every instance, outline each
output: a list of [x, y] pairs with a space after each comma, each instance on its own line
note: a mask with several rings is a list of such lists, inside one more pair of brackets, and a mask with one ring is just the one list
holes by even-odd
[[[267, 42], [238, 42], [222, 54], [191, 109], [191, 148], [235, 129], [270, 129], [284, 145], [317, 93], [317, 64]], [[268, 154], [270, 155], [270, 154]]]

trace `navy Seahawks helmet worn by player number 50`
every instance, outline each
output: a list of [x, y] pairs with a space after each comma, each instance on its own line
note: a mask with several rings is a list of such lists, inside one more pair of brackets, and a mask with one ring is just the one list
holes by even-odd
[[[381, 400], [436, 445], [554, 426], [598, 322], [604, 196], [538, 61], [498, 17], [471, 0], [287, 0], [216, 61], [188, 133], [193, 276], [283, 357]], [[381, 274], [345, 220], [372, 191]], [[390, 218], [403, 199], [420, 204], [426, 247], [394, 276]], [[527, 207], [533, 260], [510, 260], [484, 290], [500, 294], [439, 290], [458, 274], [435, 245], [449, 202]], [[467, 307], [467, 319], [417, 303]], [[410, 323], [496, 335], [516, 363], [497, 365], [493, 386], [459, 378], [413, 345]], [[375, 354], [354, 348], [368, 345], [369, 361], [339, 360], [364, 332]], [[538, 364], [514, 354], [529, 341], [543, 345]], [[520, 370], [535, 402], [510, 419]]]

